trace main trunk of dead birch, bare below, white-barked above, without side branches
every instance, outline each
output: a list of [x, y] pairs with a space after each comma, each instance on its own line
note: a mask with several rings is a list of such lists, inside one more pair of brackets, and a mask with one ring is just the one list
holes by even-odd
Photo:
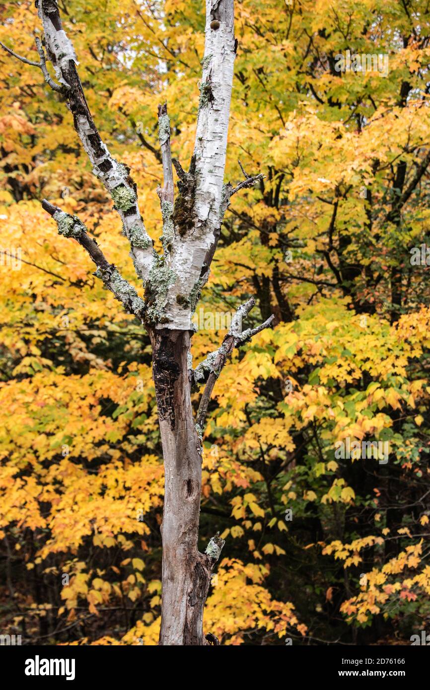
[[[202, 450], [190, 398], [190, 319], [208, 278], [215, 252], [224, 184], [235, 40], [233, 0], [206, 1], [206, 41], [195, 150], [188, 173], [178, 161], [180, 195], [174, 206], [170, 123], [159, 108], [164, 186], [166, 262], [173, 278], [166, 285], [168, 328], [153, 331], [153, 376], [162, 435], [165, 492], [162, 524], [162, 627], [159, 644], [208, 644], [203, 609], [220, 540], [213, 557], [199, 553]], [[170, 227], [169, 227], [170, 225]], [[179, 238], [167, 246], [169, 237]], [[182, 238], [182, 239], [181, 239]], [[179, 295], [179, 299], [178, 296]], [[176, 328], [175, 328], [176, 326]], [[198, 427], [197, 427], [198, 428]]]

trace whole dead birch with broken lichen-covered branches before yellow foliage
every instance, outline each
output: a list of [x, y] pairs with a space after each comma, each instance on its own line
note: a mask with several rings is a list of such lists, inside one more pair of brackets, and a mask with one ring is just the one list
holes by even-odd
[[[231, 329], [217, 351], [193, 369], [190, 339], [197, 300], [209, 275], [224, 213], [233, 194], [252, 186], [261, 175], [237, 186], [224, 184], [228, 118], [237, 43], [233, 30], [233, 0], [206, 0], [206, 41], [200, 86], [195, 147], [188, 171], [170, 152], [170, 121], [166, 104], [158, 108], [159, 144], [164, 183], [157, 188], [163, 230], [163, 254], [153, 248], [139, 213], [137, 188], [130, 170], [115, 160], [101, 140], [92, 119], [72, 43], [61, 25], [56, 0], [39, 0], [44, 40], [36, 39], [39, 62], [29, 61], [3, 46], [26, 64], [39, 67], [46, 82], [66, 99], [75, 130], [93, 166], [93, 172], [113, 199], [130, 242], [137, 278], [144, 298], [108, 262], [95, 239], [76, 216], [64, 213], [45, 199], [43, 208], [57, 222], [58, 232], [75, 239], [96, 264], [95, 275], [111, 290], [126, 311], [147, 328], [153, 346], [153, 378], [162, 437], [165, 493], [162, 522], [162, 627], [159, 644], [217, 644], [203, 633], [203, 609], [211, 573], [224, 542], [215, 536], [199, 553], [200, 495], [202, 485], [202, 433], [213, 386], [233, 348], [263, 328], [242, 331], [255, 302], [237, 309]], [[43, 46], [46, 49], [43, 50]], [[46, 67], [50, 61], [57, 81]], [[177, 193], [173, 181], [177, 172]], [[197, 418], [190, 393], [204, 386]]]

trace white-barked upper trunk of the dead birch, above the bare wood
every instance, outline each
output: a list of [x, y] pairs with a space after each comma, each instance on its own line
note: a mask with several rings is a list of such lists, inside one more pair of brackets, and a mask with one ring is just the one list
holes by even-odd
[[[190, 228], [175, 226], [166, 265], [166, 322], [157, 328], [190, 330], [195, 304], [208, 279], [219, 237], [230, 116], [235, 37], [233, 0], [206, 0], [206, 39], [195, 137], [193, 204]], [[174, 215], [175, 217], [175, 215]], [[175, 225], [175, 221], [174, 221]]]

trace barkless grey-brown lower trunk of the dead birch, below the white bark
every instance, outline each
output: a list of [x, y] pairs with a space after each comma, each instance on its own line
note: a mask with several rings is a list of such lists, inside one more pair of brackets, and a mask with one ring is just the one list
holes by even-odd
[[188, 381], [190, 334], [166, 328], [152, 339], [165, 471], [159, 644], [202, 645], [207, 644], [203, 607], [213, 559], [197, 551], [202, 453]]

